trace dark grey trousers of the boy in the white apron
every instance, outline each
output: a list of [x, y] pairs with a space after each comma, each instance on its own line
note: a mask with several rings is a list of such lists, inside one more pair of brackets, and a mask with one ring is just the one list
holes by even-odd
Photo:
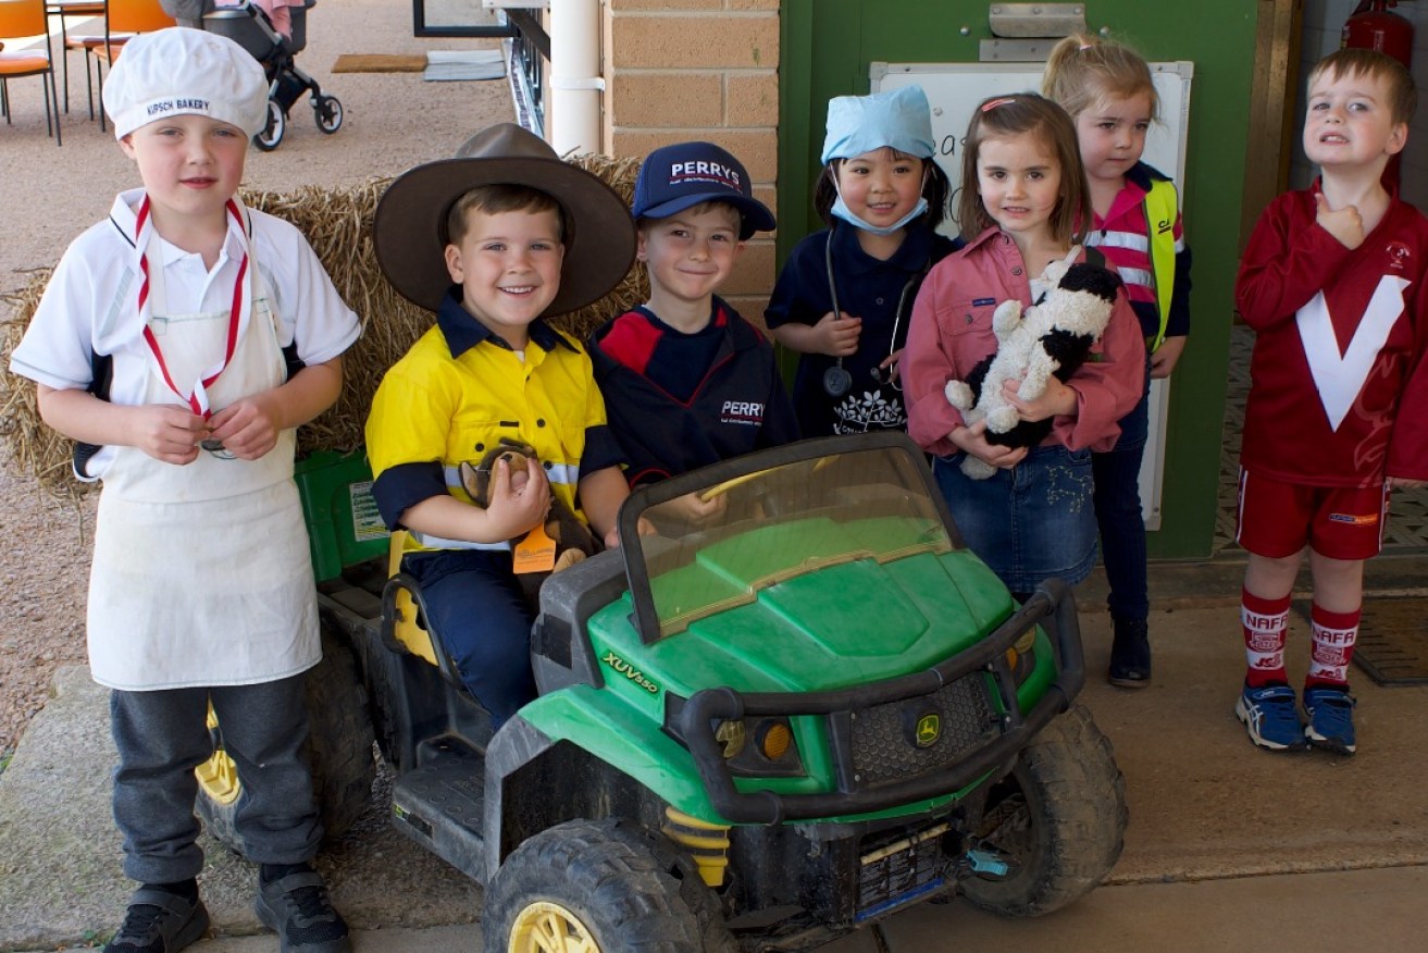
[[290, 864], [317, 854], [323, 832], [303, 757], [304, 677], [111, 693], [110, 727], [119, 747], [114, 822], [124, 836], [127, 877], [173, 883], [203, 869], [193, 769], [213, 754], [206, 724], [210, 699], [243, 783], [233, 820], [244, 856]]

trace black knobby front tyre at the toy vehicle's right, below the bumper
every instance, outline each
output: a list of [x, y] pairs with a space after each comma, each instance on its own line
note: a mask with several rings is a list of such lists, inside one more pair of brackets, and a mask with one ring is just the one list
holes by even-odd
[[1052, 720], [991, 786], [978, 836], [1010, 854], [1005, 880], [970, 879], [975, 906], [1010, 917], [1041, 916], [1100, 884], [1125, 839], [1125, 777], [1111, 742], [1080, 704]]

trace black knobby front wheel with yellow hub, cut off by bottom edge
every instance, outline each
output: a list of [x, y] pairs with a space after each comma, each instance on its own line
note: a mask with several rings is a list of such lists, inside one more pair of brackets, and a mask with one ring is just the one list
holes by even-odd
[[735, 953], [718, 902], [663, 836], [571, 820], [517, 847], [486, 892], [486, 953]]

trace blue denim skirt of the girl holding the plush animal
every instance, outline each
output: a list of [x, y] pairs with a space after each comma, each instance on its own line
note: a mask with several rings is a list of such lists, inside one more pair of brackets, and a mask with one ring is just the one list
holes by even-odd
[[1011, 470], [972, 480], [962, 454], [932, 460], [932, 476], [967, 546], [1014, 593], [1060, 576], [1075, 584], [1095, 564], [1091, 451], [1035, 447]]

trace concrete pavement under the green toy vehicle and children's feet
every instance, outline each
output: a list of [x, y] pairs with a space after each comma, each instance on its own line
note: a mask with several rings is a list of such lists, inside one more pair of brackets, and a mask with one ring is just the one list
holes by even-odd
[[[1004, 922], [968, 904], [924, 906], [828, 953], [951, 950], [978, 940], [1058, 950], [1218, 950], [1248, 937], [1277, 949], [1354, 943], [1422, 949], [1417, 907], [1428, 886], [1428, 689], [1381, 687], [1357, 673], [1359, 753], [1269, 754], [1231, 707], [1242, 676], [1238, 572], [1232, 563], [1160, 566], [1151, 622], [1155, 680], [1124, 692], [1092, 677], [1082, 700], [1115, 744], [1131, 824], [1108, 886], [1035, 922]], [[1384, 559], [1371, 587], [1417, 592], [1422, 560]], [[1092, 579], [1081, 593], [1092, 676], [1104, 670], [1108, 617]], [[1308, 637], [1291, 622], [1291, 673]], [[0, 950], [93, 940], [121, 914], [127, 884], [107, 810], [104, 693], [83, 669], [0, 774]], [[378, 799], [380, 800], [380, 793]], [[201, 877], [221, 939], [198, 953], [274, 950], [251, 912], [253, 872], [211, 846]], [[368, 952], [476, 949], [480, 889], [403, 839], [374, 804], [327, 850], [333, 894]], [[878, 946], [878, 940], [883, 946]]]

